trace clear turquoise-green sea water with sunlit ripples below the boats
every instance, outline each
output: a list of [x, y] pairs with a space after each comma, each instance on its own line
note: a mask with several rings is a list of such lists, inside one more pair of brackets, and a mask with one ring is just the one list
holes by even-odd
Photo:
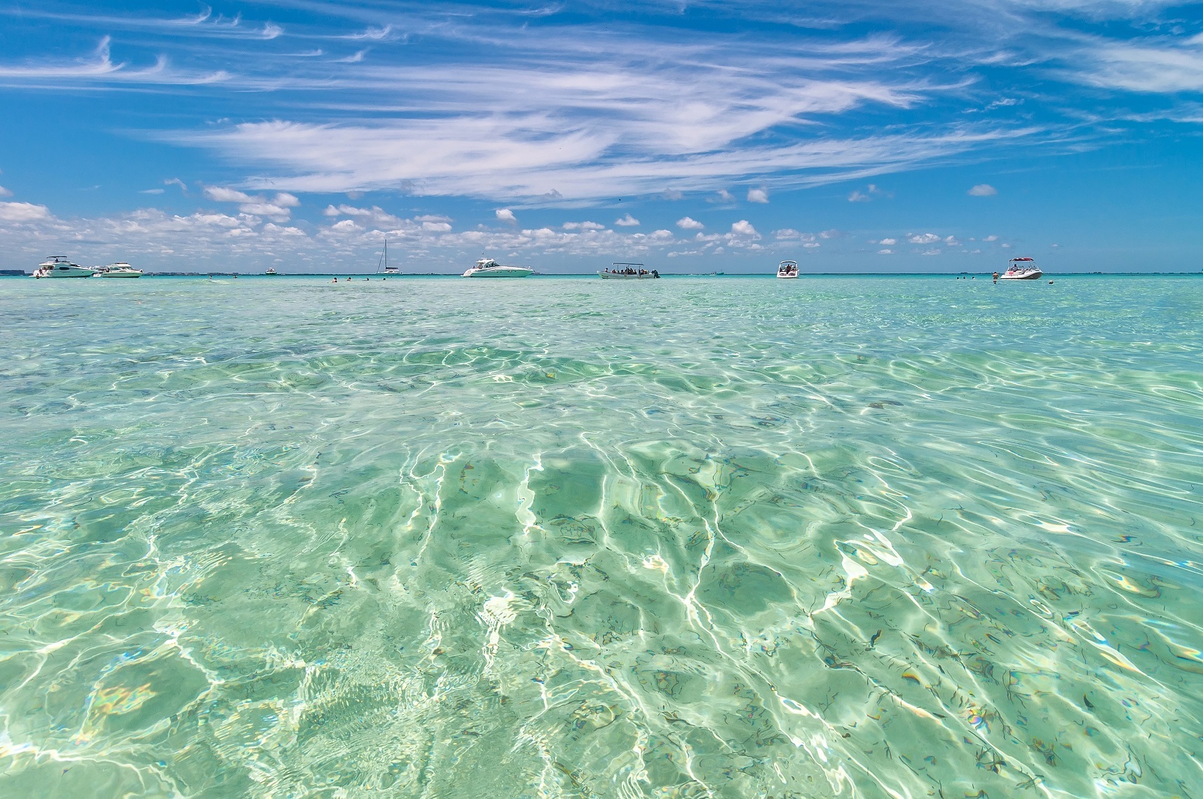
[[5, 795], [1201, 793], [1196, 278], [0, 289]]

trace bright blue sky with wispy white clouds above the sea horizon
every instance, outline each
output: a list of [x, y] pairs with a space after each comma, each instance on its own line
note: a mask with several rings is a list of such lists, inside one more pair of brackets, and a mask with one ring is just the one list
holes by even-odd
[[0, 268], [1203, 268], [1203, 5], [0, 0]]

